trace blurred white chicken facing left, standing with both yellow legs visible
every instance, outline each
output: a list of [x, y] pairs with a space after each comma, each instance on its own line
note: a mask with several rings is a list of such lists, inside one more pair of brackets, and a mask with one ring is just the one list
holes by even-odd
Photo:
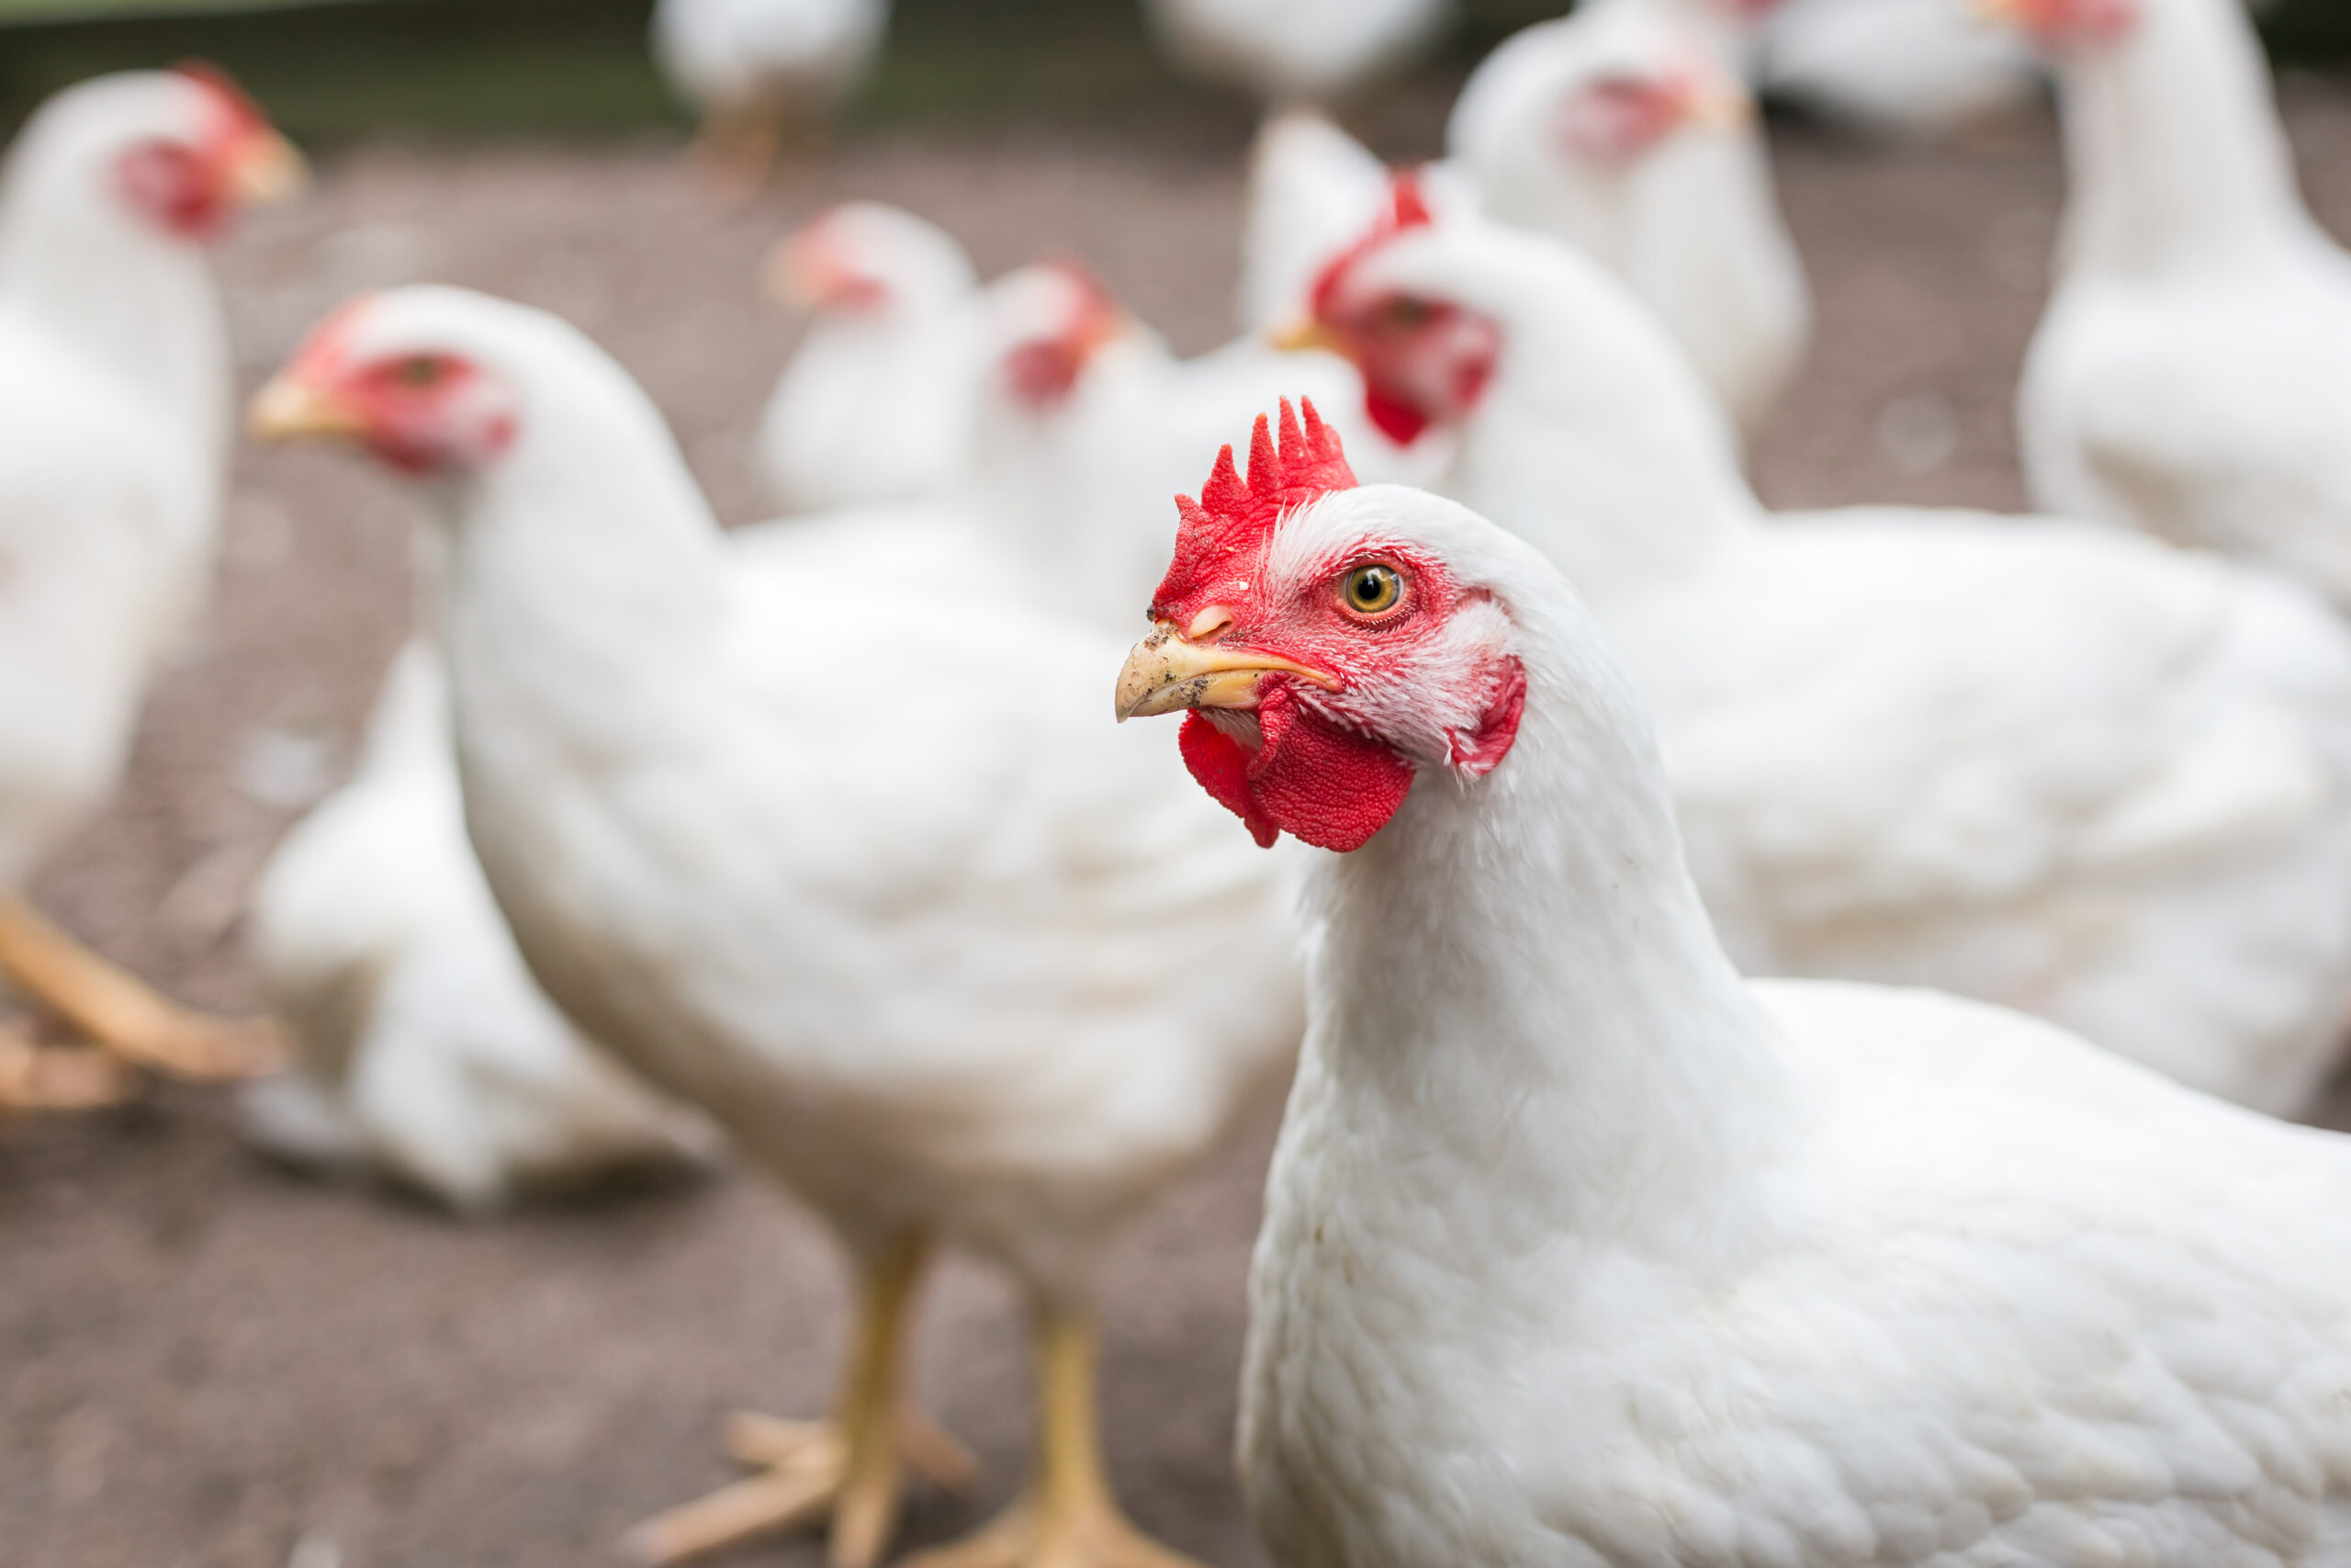
[[1027, 1291], [1041, 1427], [1023, 1502], [933, 1561], [1178, 1563], [1103, 1481], [1093, 1300], [1126, 1220], [1291, 1063], [1293, 875], [1105, 722], [1117, 642], [985, 569], [905, 578], [886, 538], [734, 550], [644, 393], [480, 294], [355, 301], [254, 423], [428, 482], [465, 823], [524, 961], [856, 1265], [837, 1420], [755, 1427], [773, 1467], [637, 1547], [830, 1509], [832, 1561], [872, 1563], [900, 1450], [955, 1469], [898, 1413], [945, 1241]]

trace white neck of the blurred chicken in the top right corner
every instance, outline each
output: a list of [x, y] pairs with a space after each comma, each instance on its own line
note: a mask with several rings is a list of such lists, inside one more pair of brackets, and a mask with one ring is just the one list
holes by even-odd
[[2144, 0], [2125, 40], [2074, 56], [2064, 141], [2069, 275], [2144, 275], [2316, 233], [2238, 0]]

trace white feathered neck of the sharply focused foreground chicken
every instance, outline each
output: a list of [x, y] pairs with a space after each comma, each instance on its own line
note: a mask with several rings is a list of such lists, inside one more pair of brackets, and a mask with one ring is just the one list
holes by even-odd
[[1451, 1269], [1514, 1267], [1474, 1237], [1495, 1213], [1733, 1246], [1789, 1105], [1768, 1025], [1697, 900], [1632, 684], [1580, 611], [1512, 616], [1512, 755], [1479, 783], [1425, 773], [1371, 844], [1317, 867], [1307, 1072], [1359, 1171], [1451, 1194]]

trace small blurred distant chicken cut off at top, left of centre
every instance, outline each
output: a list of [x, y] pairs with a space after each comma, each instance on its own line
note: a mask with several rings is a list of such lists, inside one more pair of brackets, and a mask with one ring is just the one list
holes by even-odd
[[726, 195], [766, 179], [788, 134], [823, 136], [889, 31], [889, 0], [656, 0], [654, 61], [701, 110], [696, 155]]

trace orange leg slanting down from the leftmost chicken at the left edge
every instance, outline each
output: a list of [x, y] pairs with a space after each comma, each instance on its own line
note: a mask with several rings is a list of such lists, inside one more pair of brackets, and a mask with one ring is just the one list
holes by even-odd
[[275, 1025], [207, 1018], [158, 997], [14, 893], [0, 893], [0, 976], [56, 1011], [92, 1044], [139, 1067], [219, 1081], [284, 1065]]

